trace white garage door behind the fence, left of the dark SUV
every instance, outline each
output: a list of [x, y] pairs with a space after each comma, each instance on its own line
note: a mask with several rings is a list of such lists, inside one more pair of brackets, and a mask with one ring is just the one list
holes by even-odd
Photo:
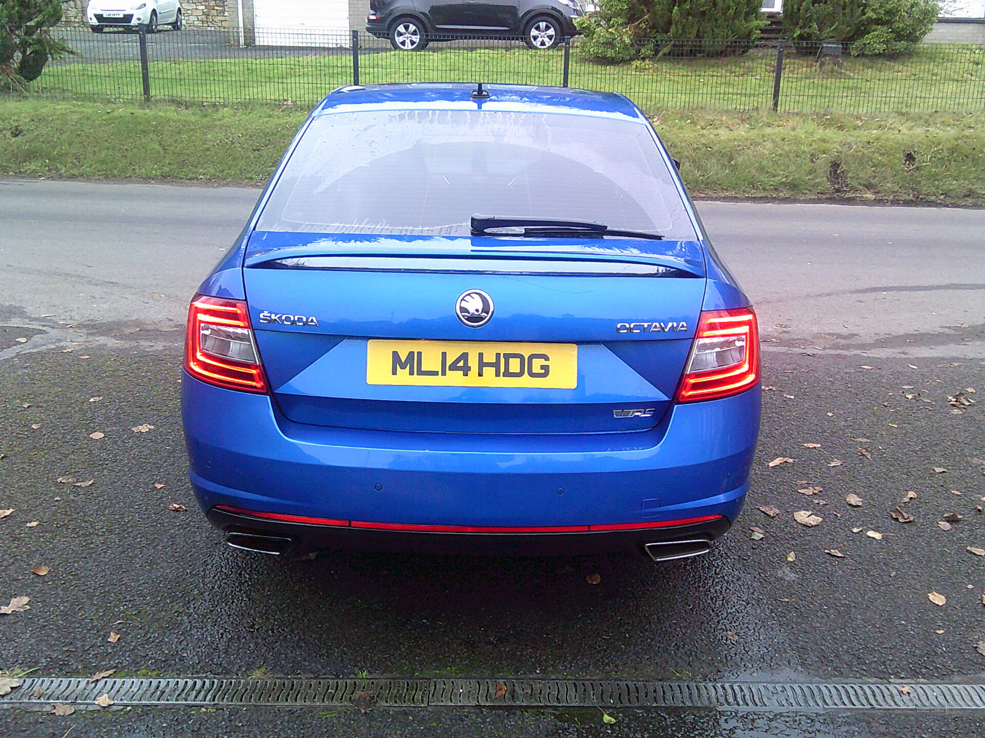
[[253, 0], [260, 46], [349, 46], [349, 0]]

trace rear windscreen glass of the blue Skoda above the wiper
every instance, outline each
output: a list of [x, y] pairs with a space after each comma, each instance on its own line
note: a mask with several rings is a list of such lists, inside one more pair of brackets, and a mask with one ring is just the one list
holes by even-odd
[[645, 124], [489, 109], [315, 118], [257, 229], [468, 235], [472, 215], [695, 238]]

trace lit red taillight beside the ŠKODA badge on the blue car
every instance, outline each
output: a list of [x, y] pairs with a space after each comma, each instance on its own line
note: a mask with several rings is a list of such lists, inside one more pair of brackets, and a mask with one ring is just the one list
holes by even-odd
[[267, 392], [244, 301], [195, 295], [188, 306], [185, 371], [228, 390]]

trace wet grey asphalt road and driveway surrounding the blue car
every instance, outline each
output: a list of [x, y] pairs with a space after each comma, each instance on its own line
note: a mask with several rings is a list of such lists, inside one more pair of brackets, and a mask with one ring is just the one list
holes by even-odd
[[[753, 493], [712, 555], [661, 567], [355, 554], [291, 563], [225, 547], [199, 515], [178, 414], [187, 298], [256, 194], [0, 182], [0, 509], [14, 509], [0, 520], [0, 599], [32, 598], [0, 616], [0, 668], [982, 678], [985, 557], [966, 548], [985, 548], [985, 212], [700, 206], [757, 305], [763, 384], [774, 388]], [[949, 404], [966, 388], [976, 404]], [[131, 430], [145, 423], [154, 427]], [[769, 467], [777, 457], [794, 461]], [[900, 505], [909, 490], [916, 499]], [[849, 493], [861, 507], [845, 504]], [[897, 505], [915, 520], [892, 520]], [[821, 524], [795, 523], [802, 510]], [[962, 520], [943, 530], [949, 513]], [[31, 573], [40, 565], [43, 578]], [[595, 572], [602, 583], [587, 584]], [[626, 712], [606, 727], [590, 711], [288, 714], [2, 711], [0, 736], [61, 735], [72, 721], [74, 736], [982, 730], [979, 716], [943, 714], [896, 715], [891, 729], [872, 715], [701, 710]]]

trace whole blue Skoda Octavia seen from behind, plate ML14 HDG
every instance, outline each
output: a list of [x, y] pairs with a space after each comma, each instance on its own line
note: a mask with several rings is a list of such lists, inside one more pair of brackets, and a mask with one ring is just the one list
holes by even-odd
[[191, 482], [233, 546], [694, 556], [759, 428], [750, 301], [624, 96], [350, 87], [191, 302]]

